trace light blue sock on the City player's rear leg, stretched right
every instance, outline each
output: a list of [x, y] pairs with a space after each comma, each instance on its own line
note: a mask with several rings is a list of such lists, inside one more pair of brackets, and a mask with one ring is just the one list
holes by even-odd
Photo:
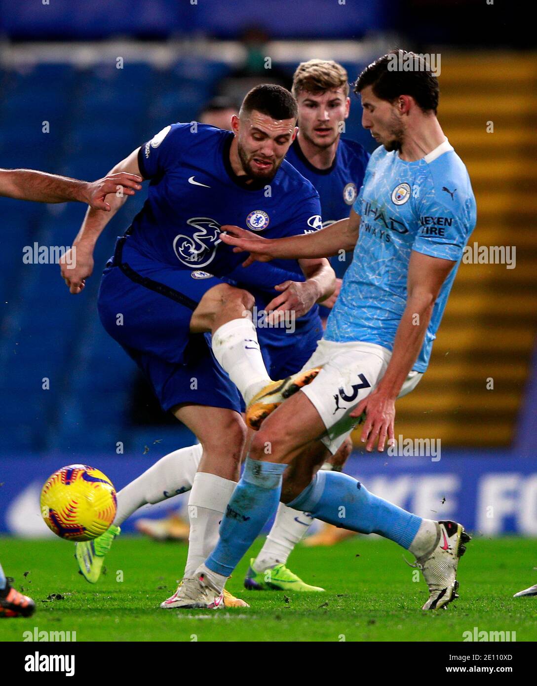
[[409, 548], [421, 517], [369, 493], [341, 472], [319, 471], [311, 484], [287, 506], [361, 534], [381, 534]]

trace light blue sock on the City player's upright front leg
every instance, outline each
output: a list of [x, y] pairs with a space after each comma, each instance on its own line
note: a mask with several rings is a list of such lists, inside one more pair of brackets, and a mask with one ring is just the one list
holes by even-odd
[[230, 576], [237, 567], [278, 507], [286, 468], [287, 464], [246, 459], [243, 475], [220, 525], [219, 541], [206, 560], [208, 569]]

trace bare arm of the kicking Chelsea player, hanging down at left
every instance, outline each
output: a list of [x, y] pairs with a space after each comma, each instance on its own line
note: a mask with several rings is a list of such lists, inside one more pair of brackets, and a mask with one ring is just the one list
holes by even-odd
[[[118, 174], [127, 172], [128, 174], [140, 175], [138, 167], [138, 151], [136, 148], [131, 154], [122, 160], [120, 163], [110, 171], [110, 174]], [[109, 175], [110, 176], [110, 175]], [[110, 211], [102, 211], [93, 207], [88, 208], [80, 231], [73, 241], [73, 248], [75, 255], [72, 257], [66, 253], [61, 261], [62, 277], [69, 287], [69, 292], [77, 294], [82, 291], [88, 276], [93, 272], [93, 249], [97, 243], [97, 239], [104, 230], [106, 224], [110, 222], [115, 213], [119, 210], [123, 203], [127, 200], [125, 193], [114, 193], [108, 196], [110, 203]], [[71, 252], [68, 251], [68, 252]], [[69, 265], [73, 265], [70, 267]]]

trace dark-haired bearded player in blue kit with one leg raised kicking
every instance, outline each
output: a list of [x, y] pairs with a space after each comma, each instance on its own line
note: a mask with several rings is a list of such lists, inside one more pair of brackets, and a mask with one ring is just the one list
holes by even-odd
[[[248, 403], [267, 378], [248, 286], [272, 292], [280, 309], [292, 312], [295, 332], [289, 340], [300, 331], [302, 341], [311, 337], [309, 350], [320, 336], [315, 303], [331, 294], [334, 283], [327, 259], [284, 259], [268, 270], [242, 270], [241, 257], [220, 239], [220, 226], [230, 222], [274, 237], [321, 228], [317, 191], [284, 159], [296, 136], [296, 114], [296, 100], [285, 88], [257, 86], [233, 117], [232, 132], [196, 122], [167, 126], [115, 167], [140, 173], [150, 187], [104, 270], [99, 316], [145, 372], [163, 410], [187, 425], [201, 447], [183, 449], [183, 460], [176, 453], [165, 456], [141, 482], [120, 491], [114, 525], [88, 545], [77, 545], [80, 571], [89, 581], [99, 578], [104, 554], [126, 517], [141, 504], [187, 490], [180, 463], [192, 463], [200, 451], [189, 499], [185, 578], [214, 546], [246, 437], [234, 383], [247, 383]], [[88, 211], [75, 239], [76, 267], [62, 270], [73, 294], [93, 271], [95, 241], [123, 199], [112, 202], [106, 215]], [[237, 278], [241, 287], [224, 281]], [[276, 292], [274, 284], [283, 285]], [[263, 304], [272, 309], [266, 297]], [[286, 379], [282, 398], [311, 378], [302, 372]]]

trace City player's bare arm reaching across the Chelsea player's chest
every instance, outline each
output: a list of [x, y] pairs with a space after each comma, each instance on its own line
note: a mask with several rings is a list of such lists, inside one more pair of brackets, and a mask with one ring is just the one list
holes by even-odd
[[330, 226], [305, 235], [287, 238], [262, 238], [238, 226], [222, 226], [226, 233], [222, 241], [234, 246], [234, 252], [250, 252], [244, 265], [253, 261], [268, 262], [271, 259], [311, 259], [331, 257], [339, 250], [353, 250], [358, 239], [360, 217], [354, 210], [348, 219], [339, 220]]

